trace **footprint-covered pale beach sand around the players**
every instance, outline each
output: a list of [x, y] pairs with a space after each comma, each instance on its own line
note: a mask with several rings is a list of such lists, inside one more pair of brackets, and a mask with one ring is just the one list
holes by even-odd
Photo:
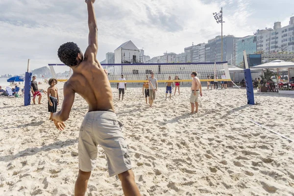
[[[294, 96], [256, 94], [260, 104], [248, 106], [244, 89], [204, 90], [199, 113], [189, 115], [189, 88], [168, 101], [161, 88], [152, 109], [141, 88], [123, 101], [113, 92], [143, 196], [294, 196], [294, 143], [234, 113], [294, 139]], [[23, 103], [0, 98], [0, 196], [73, 195], [86, 102], [75, 97], [65, 131], [48, 120], [45, 96], [43, 105]], [[86, 195], [123, 195], [101, 147]]]

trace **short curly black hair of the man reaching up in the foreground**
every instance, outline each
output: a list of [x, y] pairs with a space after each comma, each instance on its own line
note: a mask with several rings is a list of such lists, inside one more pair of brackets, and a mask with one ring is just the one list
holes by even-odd
[[61, 45], [58, 49], [57, 55], [58, 58], [69, 67], [77, 65], [77, 54], [80, 53], [80, 49], [73, 42], [67, 42]]

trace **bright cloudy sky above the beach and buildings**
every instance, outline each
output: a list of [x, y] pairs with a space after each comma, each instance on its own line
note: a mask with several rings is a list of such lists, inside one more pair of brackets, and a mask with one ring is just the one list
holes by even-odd
[[[181, 53], [221, 34], [212, 13], [223, 7], [223, 34], [244, 37], [274, 22], [289, 25], [294, 0], [96, 0], [98, 61], [132, 40], [151, 58]], [[88, 45], [84, 0], [0, 0], [0, 75], [61, 63], [57, 49]]]

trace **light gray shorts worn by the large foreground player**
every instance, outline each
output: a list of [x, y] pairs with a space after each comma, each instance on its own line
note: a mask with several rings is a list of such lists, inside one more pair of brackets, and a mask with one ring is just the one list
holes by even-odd
[[118, 121], [114, 112], [88, 112], [80, 127], [78, 138], [79, 169], [83, 172], [95, 169], [98, 145], [105, 151], [109, 176], [132, 169], [122, 129], [123, 124]]

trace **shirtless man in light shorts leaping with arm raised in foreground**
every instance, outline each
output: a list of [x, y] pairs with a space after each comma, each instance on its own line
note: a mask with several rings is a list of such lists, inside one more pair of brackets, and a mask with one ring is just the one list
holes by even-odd
[[89, 46], [83, 55], [73, 42], [58, 49], [59, 59], [73, 69], [73, 75], [64, 84], [64, 100], [61, 111], [54, 113], [53, 121], [59, 130], [64, 130], [74, 101], [75, 93], [84, 98], [89, 111], [80, 127], [78, 141], [79, 173], [74, 195], [84, 196], [91, 171], [96, 167], [97, 146], [106, 154], [110, 176], [118, 175], [125, 196], [140, 196], [135, 183], [128, 148], [123, 138], [122, 126], [113, 107], [110, 83], [102, 66], [96, 59], [98, 50], [97, 23], [93, 3], [86, 0], [88, 8]]

